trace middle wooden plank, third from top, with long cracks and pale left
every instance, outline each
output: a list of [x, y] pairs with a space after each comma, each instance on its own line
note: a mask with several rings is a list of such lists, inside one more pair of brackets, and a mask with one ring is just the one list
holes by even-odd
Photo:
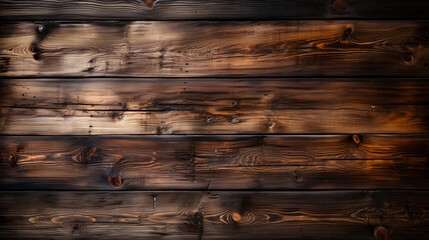
[[428, 133], [426, 79], [3, 79], [9, 135]]

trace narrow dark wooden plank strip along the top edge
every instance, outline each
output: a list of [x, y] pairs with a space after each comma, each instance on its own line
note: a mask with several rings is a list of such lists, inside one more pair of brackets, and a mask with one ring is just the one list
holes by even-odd
[[427, 19], [426, 0], [4, 0], [9, 20]]

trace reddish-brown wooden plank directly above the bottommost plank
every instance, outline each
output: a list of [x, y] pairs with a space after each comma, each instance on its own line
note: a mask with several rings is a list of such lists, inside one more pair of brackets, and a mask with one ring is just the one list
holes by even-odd
[[3, 137], [0, 189], [428, 189], [429, 135]]

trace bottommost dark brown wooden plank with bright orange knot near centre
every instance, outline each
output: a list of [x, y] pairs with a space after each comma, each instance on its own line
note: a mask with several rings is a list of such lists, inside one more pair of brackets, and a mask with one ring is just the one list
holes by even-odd
[[429, 233], [427, 191], [2, 192], [0, 203], [7, 239], [382, 240]]

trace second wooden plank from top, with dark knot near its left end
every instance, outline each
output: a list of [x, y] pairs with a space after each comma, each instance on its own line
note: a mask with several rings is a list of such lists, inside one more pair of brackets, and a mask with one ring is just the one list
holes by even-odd
[[9, 22], [0, 76], [429, 76], [428, 24]]

